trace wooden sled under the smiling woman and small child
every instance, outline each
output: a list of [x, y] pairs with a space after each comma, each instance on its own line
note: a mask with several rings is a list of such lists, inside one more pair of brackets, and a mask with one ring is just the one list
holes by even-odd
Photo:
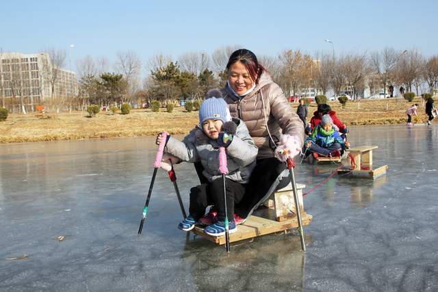
[[[305, 185], [297, 184], [298, 200], [300, 202], [302, 225], [309, 225], [313, 216], [305, 213], [302, 204], [302, 189]], [[237, 231], [230, 234], [230, 242], [252, 239], [261, 235], [278, 233], [292, 228], [298, 228], [292, 185], [276, 191], [264, 205], [267, 209], [256, 210], [244, 224], [237, 225]], [[292, 211], [292, 212], [291, 212]], [[214, 237], [204, 232], [203, 226], [195, 226], [193, 233], [218, 245], [225, 244], [225, 235]]]

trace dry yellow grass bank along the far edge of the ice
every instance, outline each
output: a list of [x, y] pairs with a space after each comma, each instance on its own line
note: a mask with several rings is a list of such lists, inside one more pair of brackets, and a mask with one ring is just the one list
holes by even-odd
[[[404, 111], [413, 103], [391, 98], [349, 101], [344, 109], [337, 101], [330, 104], [347, 125], [368, 125], [404, 123], [407, 118]], [[420, 104], [417, 122], [426, 122], [420, 98], [415, 103]], [[292, 107], [295, 111], [297, 105]], [[312, 104], [308, 119], [315, 110], [316, 105]], [[99, 113], [94, 118], [88, 118], [88, 114], [83, 112], [50, 114], [46, 118], [38, 118], [33, 114], [10, 114], [8, 120], [0, 122], [0, 143], [149, 136], [159, 131], [184, 134], [197, 123], [198, 111], [188, 113], [181, 107], [175, 108], [172, 114], [165, 109], [158, 113], [148, 109], [134, 110], [129, 115]]]

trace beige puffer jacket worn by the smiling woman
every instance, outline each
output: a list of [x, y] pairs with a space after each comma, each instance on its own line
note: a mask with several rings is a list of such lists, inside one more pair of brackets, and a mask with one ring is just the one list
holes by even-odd
[[[221, 88], [220, 92], [229, 104], [231, 116], [240, 118], [248, 127], [250, 136], [253, 137], [255, 145], [259, 148], [257, 159], [274, 157], [272, 142], [270, 142], [266, 129], [266, 120], [270, 134], [276, 142], [281, 140], [281, 134], [289, 134], [298, 137], [300, 146], [303, 145], [304, 127], [302, 120], [294, 113], [283, 94], [283, 90], [272, 81], [268, 73], [263, 72], [256, 88], [241, 100], [227, 86]], [[266, 120], [263, 115], [266, 116]]]

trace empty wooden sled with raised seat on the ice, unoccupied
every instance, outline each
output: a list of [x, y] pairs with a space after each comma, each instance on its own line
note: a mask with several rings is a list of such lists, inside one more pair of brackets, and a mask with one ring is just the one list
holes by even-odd
[[352, 169], [350, 166], [348, 166], [348, 168], [341, 168], [337, 173], [350, 173], [353, 176], [372, 179], [383, 176], [383, 174], [386, 174], [388, 165], [383, 165], [374, 170], [372, 168], [372, 150], [376, 148], [378, 148], [378, 146], [358, 146], [350, 148], [349, 151], [355, 161], [355, 165], [353, 165], [355, 167]]

